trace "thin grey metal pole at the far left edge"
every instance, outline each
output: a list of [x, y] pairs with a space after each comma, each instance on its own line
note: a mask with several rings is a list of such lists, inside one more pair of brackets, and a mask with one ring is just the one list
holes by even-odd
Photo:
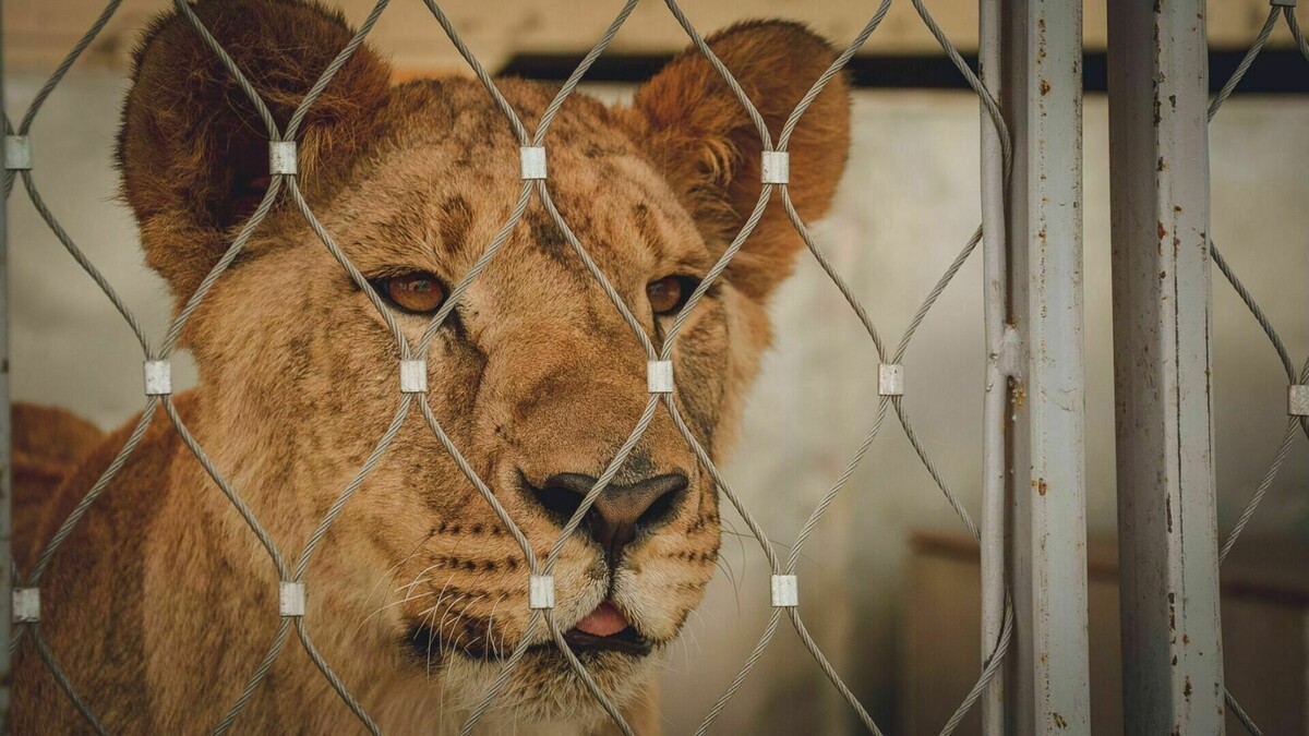
[[[0, 3], [3, 5], [3, 3]], [[3, 9], [3, 8], [0, 8]], [[0, 13], [3, 17], [3, 13]], [[4, 107], [4, 28], [0, 25], [0, 109]], [[9, 213], [0, 193], [0, 735], [9, 733], [9, 627], [13, 621], [13, 547], [9, 507], [13, 498], [9, 427]]]

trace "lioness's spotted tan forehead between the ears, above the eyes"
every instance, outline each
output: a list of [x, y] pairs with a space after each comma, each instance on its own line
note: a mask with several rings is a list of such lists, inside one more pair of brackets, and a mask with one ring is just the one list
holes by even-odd
[[[528, 128], [539, 123], [554, 94], [529, 81], [501, 89]], [[525, 194], [513, 126], [475, 81], [406, 83], [394, 97], [386, 144], [355, 168], [327, 213], [343, 240], [359, 248], [361, 267], [418, 257], [462, 272], [524, 202], [516, 227], [501, 238], [509, 248], [531, 248], [580, 268], [562, 220], [588, 253], [609, 261], [602, 266], [622, 270], [634, 258], [637, 267], [712, 265], [674, 189], [601, 102], [575, 93], [552, 118], [545, 138], [547, 207], [538, 194]]]

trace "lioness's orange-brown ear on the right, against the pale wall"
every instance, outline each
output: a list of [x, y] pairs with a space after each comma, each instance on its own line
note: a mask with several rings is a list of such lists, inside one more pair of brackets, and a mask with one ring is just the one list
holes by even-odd
[[[774, 144], [787, 117], [835, 54], [800, 24], [757, 21], [707, 39], [768, 126]], [[725, 245], [759, 199], [763, 143], [745, 107], [694, 47], [636, 92], [634, 138], [668, 178], [711, 242]], [[838, 75], [800, 119], [789, 193], [806, 221], [831, 204], [850, 148], [850, 93]], [[764, 299], [791, 274], [800, 236], [778, 196], [728, 268], [728, 279]]]

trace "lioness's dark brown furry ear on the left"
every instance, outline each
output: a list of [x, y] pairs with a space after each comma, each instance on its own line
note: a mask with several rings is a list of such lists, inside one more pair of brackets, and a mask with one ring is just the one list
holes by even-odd
[[[353, 35], [340, 14], [298, 0], [202, 0], [192, 9], [283, 131]], [[296, 138], [310, 203], [338, 189], [374, 138], [389, 88], [386, 63], [360, 47], [309, 109]], [[147, 263], [186, 299], [268, 187], [268, 131], [177, 12], [156, 18], [134, 55], [118, 165]]]

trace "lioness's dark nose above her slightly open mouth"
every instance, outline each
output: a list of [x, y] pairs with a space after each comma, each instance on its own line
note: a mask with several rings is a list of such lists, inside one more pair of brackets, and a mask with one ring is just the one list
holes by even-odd
[[[530, 490], [563, 526], [596, 486], [596, 481], [580, 473], [560, 473], [547, 478], [542, 487]], [[672, 519], [686, 496], [686, 475], [681, 473], [654, 475], [627, 486], [610, 483], [586, 512], [585, 526], [592, 538], [614, 557], [641, 532]]]

